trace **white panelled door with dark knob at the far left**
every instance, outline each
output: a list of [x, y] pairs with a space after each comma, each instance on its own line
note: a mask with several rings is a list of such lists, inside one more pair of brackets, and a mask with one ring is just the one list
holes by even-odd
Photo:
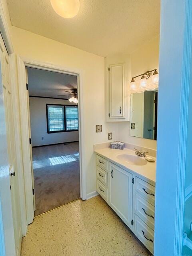
[[4, 113], [6, 121], [6, 140], [8, 152], [8, 169], [10, 174], [10, 191], [12, 201], [12, 218], [14, 224], [14, 240], [16, 254], [20, 254], [22, 230], [20, 215], [20, 199], [18, 188], [16, 145], [14, 134], [13, 108], [12, 108], [12, 90], [10, 84], [9, 56], [4, 46], [2, 37], [0, 37], [0, 65], [1, 81], [3, 87]]

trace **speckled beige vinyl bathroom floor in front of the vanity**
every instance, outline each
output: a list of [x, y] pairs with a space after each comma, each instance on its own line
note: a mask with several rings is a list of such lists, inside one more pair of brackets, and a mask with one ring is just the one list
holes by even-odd
[[150, 255], [100, 196], [76, 200], [34, 219], [22, 256]]

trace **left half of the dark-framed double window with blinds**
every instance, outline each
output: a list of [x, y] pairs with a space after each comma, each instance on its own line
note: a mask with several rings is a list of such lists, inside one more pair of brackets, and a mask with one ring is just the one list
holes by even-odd
[[64, 106], [59, 105], [48, 105], [48, 131], [64, 131]]

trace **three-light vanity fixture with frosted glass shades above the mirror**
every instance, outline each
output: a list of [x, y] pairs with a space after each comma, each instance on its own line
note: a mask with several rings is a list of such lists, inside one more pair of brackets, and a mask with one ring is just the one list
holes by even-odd
[[[154, 73], [152, 75], [153, 71], [154, 71]], [[150, 77], [152, 77], [152, 80], [151, 80], [152, 85], [153, 84], [158, 84], [158, 82], [159, 82], [159, 74], [157, 72], [157, 69], [154, 68], [153, 70], [146, 71], [143, 74], [132, 77], [132, 80], [131, 80], [131, 83], [130, 83], [130, 90], [136, 90], [137, 89], [137, 85], [136, 85], [136, 82], [135, 82], [134, 78], [139, 77], [139, 76], [141, 76], [140, 88], [144, 88], [144, 87], [147, 86], [147, 79], [150, 78]]]

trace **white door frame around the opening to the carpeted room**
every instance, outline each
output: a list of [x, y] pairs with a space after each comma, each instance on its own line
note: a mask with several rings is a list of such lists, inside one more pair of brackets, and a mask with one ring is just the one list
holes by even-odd
[[38, 68], [52, 72], [63, 74], [71, 74], [77, 76], [78, 88], [78, 115], [79, 115], [79, 153], [80, 153], [80, 198], [86, 200], [86, 170], [85, 154], [84, 154], [84, 129], [83, 129], [83, 71], [72, 69], [69, 67], [56, 66], [48, 62], [40, 62], [30, 58], [17, 56], [18, 64], [18, 86], [20, 98], [20, 120], [22, 133], [22, 149], [23, 149], [23, 167], [24, 167], [24, 185], [26, 197], [26, 218], [27, 224], [33, 222], [34, 206], [32, 196], [32, 176], [31, 176], [31, 158], [29, 144], [29, 127], [28, 127], [28, 110], [27, 110], [27, 94], [26, 94], [26, 67]]

